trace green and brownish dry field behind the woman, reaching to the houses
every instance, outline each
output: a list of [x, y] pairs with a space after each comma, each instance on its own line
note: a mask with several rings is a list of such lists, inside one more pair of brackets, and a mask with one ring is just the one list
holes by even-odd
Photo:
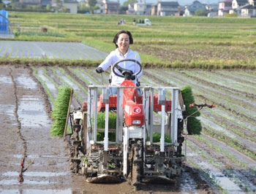
[[[123, 18], [126, 24], [117, 26]], [[152, 26], [133, 26], [149, 18]], [[144, 66], [255, 69], [256, 18], [157, 17], [129, 15], [70, 15], [10, 12], [15, 40], [83, 42], [99, 50], [115, 49], [113, 36], [132, 32], [132, 50]], [[20, 25], [20, 31], [15, 28]], [[48, 28], [41, 33], [42, 27]]]

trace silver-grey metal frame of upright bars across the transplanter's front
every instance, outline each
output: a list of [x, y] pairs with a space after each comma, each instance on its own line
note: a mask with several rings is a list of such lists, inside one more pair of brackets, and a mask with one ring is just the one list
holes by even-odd
[[[178, 90], [179, 88], [176, 87], [125, 87], [125, 86], [102, 86], [102, 85], [89, 85], [89, 92], [88, 92], [88, 121], [87, 121], [87, 128], [89, 132], [92, 134], [93, 141], [97, 141], [97, 90], [98, 88], [102, 88], [103, 94], [103, 103], [106, 104], [105, 106], [105, 114], [106, 118], [108, 118], [108, 97], [109, 97], [109, 90], [110, 88], [117, 88], [117, 106], [116, 106], [116, 143], [121, 144], [123, 141], [123, 117], [124, 117], [124, 110], [123, 110], [123, 93], [124, 88], [140, 88], [143, 90], [143, 107], [145, 112], [145, 124], [143, 125], [147, 131], [149, 131], [149, 141], [153, 142], [153, 131], [154, 131], [154, 119], [153, 119], [153, 109], [149, 109], [149, 96], [151, 96], [151, 107], [154, 105], [154, 90], [158, 90], [159, 95], [159, 104], [162, 106], [161, 112], [161, 139], [160, 139], [160, 151], [164, 152], [165, 150], [165, 96], [166, 91], [170, 90], [172, 93], [172, 109], [171, 109], [171, 126], [170, 126], [170, 135], [172, 144], [177, 142], [177, 125], [178, 125], [178, 112], [181, 111], [178, 109]], [[91, 126], [91, 123], [94, 123]], [[93, 127], [94, 130], [91, 130]], [[105, 120], [105, 139], [104, 150], [108, 150], [108, 119]], [[146, 134], [144, 135], [144, 141], [147, 139]], [[146, 141], [144, 142], [146, 144]]]

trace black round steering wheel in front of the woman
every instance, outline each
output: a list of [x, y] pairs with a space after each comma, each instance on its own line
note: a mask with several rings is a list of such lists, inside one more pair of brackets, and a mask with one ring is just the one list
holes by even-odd
[[[121, 68], [120, 66], [118, 66], [118, 63], [121, 63], [121, 62], [124, 62], [124, 61], [132, 61], [132, 62], [137, 63], [137, 64], [140, 66], [139, 71], [137, 71], [137, 72], [135, 72], [135, 74], [133, 74], [131, 70], [129, 70], [129, 69], [124, 69], [124, 68]], [[116, 73], [115, 68], [118, 69], [118, 71], [120, 71], [121, 74]], [[112, 69], [113, 69], [113, 73], [114, 73], [117, 77], [126, 77], [127, 75], [128, 75], [129, 77], [131, 77], [132, 75], [137, 76], [138, 74], [140, 74], [140, 71], [142, 70], [142, 66], [141, 66], [140, 62], [139, 62], [139, 61], [136, 61], [135, 59], [125, 58], [125, 59], [121, 59], [120, 61], [117, 61], [117, 62], [113, 65]]]

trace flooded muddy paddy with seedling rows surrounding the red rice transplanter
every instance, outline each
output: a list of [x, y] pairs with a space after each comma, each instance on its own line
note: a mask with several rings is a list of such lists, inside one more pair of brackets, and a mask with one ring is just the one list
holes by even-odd
[[[76, 92], [72, 106], [78, 107], [87, 99], [88, 85], [99, 85], [101, 77], [84, 67], [34, 69], [0, 67], [0, 193], [256, 192], [256, 78], [250, 77], [256, 71], [144, 69], [141, 85], [191, 85], [197, 104], [215, 104], [216, 108], [203, 109], [201, 135], [187, 137], [187, 161], [176, 185], [147, 185], [135, 191], [127, 182], [91, 185], [82, 175], [72, 174], [69, 160], [59, 158], [67, 157], [64, 139], [49, 133], [53, 101], [46, 90], [56, 98], [58, 86], [69, 85]], [[103, 74], [103, 84], [108, 84], [108, 72]], [[20, 183], [24, 143], [25, 167], [31, 165]]]

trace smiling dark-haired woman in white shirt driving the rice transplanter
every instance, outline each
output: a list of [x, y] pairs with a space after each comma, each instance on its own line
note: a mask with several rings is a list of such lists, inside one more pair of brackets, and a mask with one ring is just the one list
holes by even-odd
[[[103, 71], [108, 69], [109, 66], [113, 66], [113, 64], [121, 59], [134, 59], [140, 63], [140, 55], [129, 49], [129, 44], [133, 43], [132, 34], [129, 31], [119, 31], [114, 37], [113, 43], [116, 44], [116, 50], [113, 50], [107, 58], [105, 58], [105, 61], [97, 67], [96, 72], [98, 74], [101, 74]], [[140, 66], [132, 61], [118, 63], [118, 66], [131, 70], [133, 74], [140, 70]], [[118, 70], [116, 70], [116, 72], [118, 72]], [[137, 75], [137, 78], [141, 77], [142, 73], [143, 71], [141, 70], [140, 74]], [[110, 85], [118, 86], [121, 85], [122, 82], [124, 82], [124, 78], [116, 76], [116, 74], [111, 71]], [[135, 77], [132, 77], [132, 82], [134, 82], [135, 85], [138, 85], [138, 79], [135, 79]], [[112, 93], [116, 94], [116, 88], [112, 88]]]

